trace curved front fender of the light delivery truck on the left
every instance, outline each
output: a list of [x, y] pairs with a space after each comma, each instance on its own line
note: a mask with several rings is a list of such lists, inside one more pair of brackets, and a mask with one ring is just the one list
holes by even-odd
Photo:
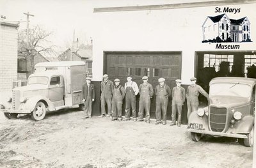
[[55, 107], [52, 102], [46, 98], [45, 96], [33, 96], [28, 98], [26, 103], [24, 104], [24, 109], [28, 109], [29, 111], [33, 111], [35, 109], [37, 102], [44, 102], [45, 105], [49, 108], [49, 111], [54, 111]]

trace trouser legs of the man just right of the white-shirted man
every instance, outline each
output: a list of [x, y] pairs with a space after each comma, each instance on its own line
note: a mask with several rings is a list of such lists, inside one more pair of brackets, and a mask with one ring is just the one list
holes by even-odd
[[138, 115], [138, 119], [143, 119], [145, 109], [145, 120], [149, 121], [150, 119], [150, 98], [140, 98], [140, 111]]

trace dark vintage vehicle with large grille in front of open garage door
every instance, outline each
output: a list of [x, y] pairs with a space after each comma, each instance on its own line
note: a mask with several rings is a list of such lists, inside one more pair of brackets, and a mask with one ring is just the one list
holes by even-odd
[[217, 77], [209, 86], [209, 106], [192, 112], [188, 132], [193, 141], [205, 134], [234, 137], [253, 146], [256, 79]]

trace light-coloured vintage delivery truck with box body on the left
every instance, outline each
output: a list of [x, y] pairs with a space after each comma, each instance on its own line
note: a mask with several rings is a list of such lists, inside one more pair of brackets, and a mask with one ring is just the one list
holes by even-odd
[[39, 121], [47, 111], [82, 107], [82, 86], [86, 80], [84, 61], [46, 62], [35, 65], [27, 86], [14, 88], [12, 97], [1, 104], [8, 119], [31, 114]]

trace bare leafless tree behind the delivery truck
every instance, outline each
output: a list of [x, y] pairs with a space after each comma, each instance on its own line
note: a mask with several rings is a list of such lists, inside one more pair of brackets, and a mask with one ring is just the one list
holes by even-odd
[[19, 49], [18, 52], [26, 58], [26, 60], [31, 65], [29, 73], [34, 72], [34, 57], [35, 54], [53, 54], [53, 48], [56, 47], [52, 45], [49, 41], [49, 37], [52, 35], [52, 32], [42, 29], [39, 25], [34, 26], [32, 29], [29, 29], [29, 36], [26, 35], [26, 29], [19, 31], [18, 42]]

